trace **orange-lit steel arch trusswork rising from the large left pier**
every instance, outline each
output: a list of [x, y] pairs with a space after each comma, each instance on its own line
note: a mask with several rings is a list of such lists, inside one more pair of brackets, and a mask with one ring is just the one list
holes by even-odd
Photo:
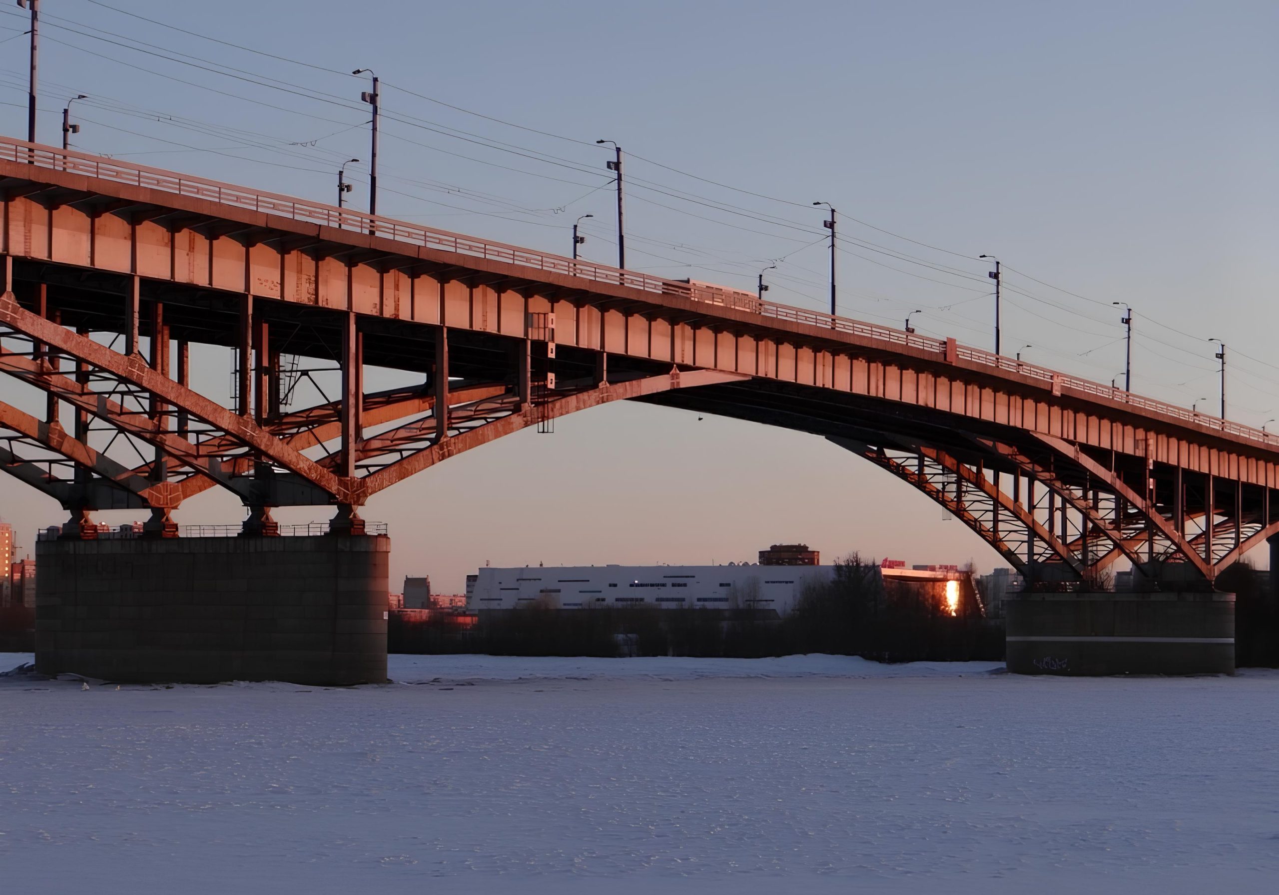
[[[134, 309], [139, 303], [134, 303]], [[555, 381], [553, 348], [524, 341], [523, 368], [494, 381], [450, 381], [444, 330], [426, 381], [365, 394], [362, 336], [347, 317], [341, 355], [281, 361], [248, 340], [237, 353], [231, 403], [189, 386], [189, 348], [179, 343], [177, 377], [168, 330], [152, 306], [148, 338], [72, 331], [0, 295], [0, 372], [45, 393], [42, 418], [0, 404], [4, 469], [72, 511], [150, 508], [160, 524], [183, 500], [210, 487], [234, 492], [269, 522], [271, 506], [362, 505], [441, 459], [530, 424], [596, 404], [684, 386], [742, 378], [671, 371], [610, 384]], [[155, 335], [159, 334], [159, 335]], [[143, 348], [146, 353], [143, 353]], [[339, 394], [331, 391], [340, 381]], [[307, 384], [320, 396], [288, 407]]]

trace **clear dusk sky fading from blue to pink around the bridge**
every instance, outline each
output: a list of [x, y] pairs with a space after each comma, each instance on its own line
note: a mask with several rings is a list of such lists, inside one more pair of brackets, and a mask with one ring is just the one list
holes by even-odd
[[[1219, 338], [1229, 417], [1279, 417], [1274, 3], [43, 0], [41, 17], [41, 142], [87, 93], [75, 148], [331, 202], [338, 165], [368, 157], [368, 75], [345, 73], [372, 68], [380, 214], [563, 253], [593, 215], [582, 253], [615, 262], [611, 152], [595, 144], [611, 139], [627, 153], [629, 267], [753, 289], [776, 262], [770, 299], [824, 308], [812, 202], [830, 202], [845, 316], [900, 325], [918, 309], [920, 332], [991, 348], [977, 256], [995, 254], [1005, 353], [1122, 384], [1111, 302], [1131, 303], [1134, 391], [1215, 413]], [[14, 137], [26, 27], [0, 8], [0, 128]], [[358, 208], [365, 161], [348, 166]], [[228, 361], [197, 367], [223, 399]], [[12, 382], [0, 399], [40, 405]], [[375, 497], [365, 515], [390, 525], [393, 589], [430, 574], [460, 591], [485, 561], [723, 563], [775, 542], [828, 561], [1001, 564], [813, 436], [629, 404], [555, 430]], [[0, 477], [0, 517], [28, 549], [64, 515]], [[211, 492], [177, 514], [242, 517]]]

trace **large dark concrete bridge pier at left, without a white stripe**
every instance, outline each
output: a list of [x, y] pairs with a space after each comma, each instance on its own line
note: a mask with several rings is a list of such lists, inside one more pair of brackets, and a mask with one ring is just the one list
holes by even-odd
[[129, 683], [386, 680], [385, 534], [49, 538], [36, 669]]

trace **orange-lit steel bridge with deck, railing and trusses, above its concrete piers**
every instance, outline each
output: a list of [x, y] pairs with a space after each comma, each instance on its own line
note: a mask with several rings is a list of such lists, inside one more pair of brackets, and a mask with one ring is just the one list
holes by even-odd
[[[1279, 437], [953, 339], [20, 141], [0, 202], [0, 372], [47, 396], [0, 404], [0, 468], [68, 537], [118, 508], [175, 534], [214, 487], [248, 533], [326, 504], [358, 533], [384, 488], [614, 400], [830, 439], [1035, 580], [1210, 580], [1279, 532]], [[193, 345], [239, 358], [231, 401]], [[340, 394], [286, 407], [297, 358]], [[414, 384], [368, 391], [366, 366]]]

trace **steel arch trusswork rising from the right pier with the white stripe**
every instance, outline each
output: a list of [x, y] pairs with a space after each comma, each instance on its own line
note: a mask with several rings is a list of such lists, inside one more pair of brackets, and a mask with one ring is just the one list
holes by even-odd
[[922, 491], [1031, 578], [1095, 579], [1119, 559], [1140, 574], [1187, 564], [1211, 578], [1279, 532], [1266, 488], [1207, 477], [1188, 483], [1181, 471], [1156, 477], [1149, 468], [1133, 487], [1132, 474], [1032, 437], [1055, 453], [1036, 460], [976, 436], [962, 453], [833, 440]]

